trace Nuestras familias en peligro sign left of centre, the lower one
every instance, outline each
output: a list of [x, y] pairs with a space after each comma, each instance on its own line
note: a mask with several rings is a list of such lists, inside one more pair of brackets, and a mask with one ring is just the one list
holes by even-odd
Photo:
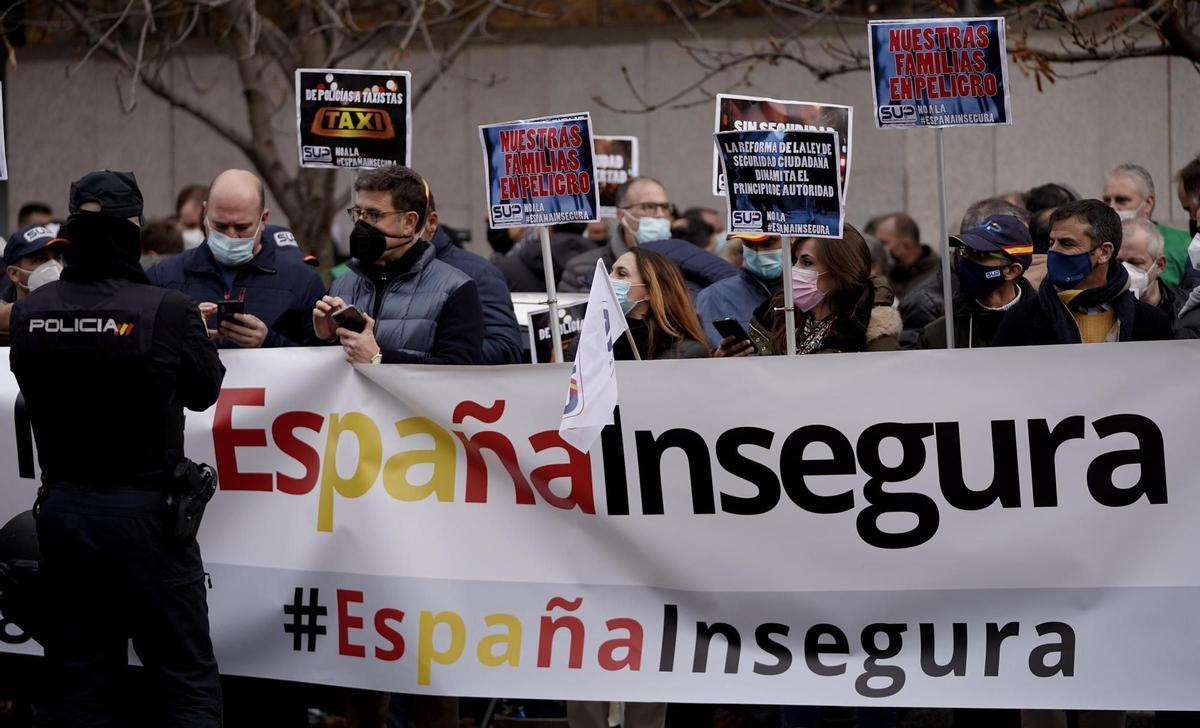
[[589, 114], [479, 127], [491, 227], [599, 219]]

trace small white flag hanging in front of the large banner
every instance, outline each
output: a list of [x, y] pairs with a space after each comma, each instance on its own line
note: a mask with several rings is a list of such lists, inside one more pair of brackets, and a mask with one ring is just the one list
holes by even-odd
[[617, 407], [617, 366], [612, 345], [624, 332], [625, 314], [617, 303], [604, 260], [596, 260], [588, 312], [583, 315], [566, 390], [563, 423], [558, 427], [563, 439], [583, 452], [592, 449], [605, 425], [612, 425], [612, 410]]

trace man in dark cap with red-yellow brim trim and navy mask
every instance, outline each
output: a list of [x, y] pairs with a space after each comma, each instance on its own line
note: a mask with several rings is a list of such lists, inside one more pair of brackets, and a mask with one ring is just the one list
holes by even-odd
[[[990, 347], [1008, 311], [1037, 294], [1022, 273], [1033, 261], [1030, 229], [1012, 215], [992, 215], [950, 237], [959, 291], [954, 301], [954, 347]], [[918, 349], [946, 348], [946, 317], [926, 324]]]

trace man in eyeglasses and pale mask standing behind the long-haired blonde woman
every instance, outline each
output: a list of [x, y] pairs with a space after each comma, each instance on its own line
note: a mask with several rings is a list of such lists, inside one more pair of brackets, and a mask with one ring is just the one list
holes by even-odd
[[566, 261], [558, 289], [565, 293], [592, 290], [596, 260], [611, 269], [617, 258], [634, 246], [661, 253], [679, 266], [688, 289], [695, 295], [712, 283], [737, 275], [737, 269], [685, 240], [671, 237], [674, 207], [667, 200], [661, 182], [650, 178], [632, 178], [617, 188], [617, 224], [608, 243], [580, 253]]

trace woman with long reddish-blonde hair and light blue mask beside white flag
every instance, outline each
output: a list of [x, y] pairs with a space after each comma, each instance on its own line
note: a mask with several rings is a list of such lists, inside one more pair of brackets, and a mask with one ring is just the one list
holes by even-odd
[[[696, 318], [679, 267], [666, 255], [630, 248], [612, 264], [613, 291], [642, 359], [701, 359], [708, 339]], [[618, 360], [634, 359], [629, 337], [613, 348]]]

